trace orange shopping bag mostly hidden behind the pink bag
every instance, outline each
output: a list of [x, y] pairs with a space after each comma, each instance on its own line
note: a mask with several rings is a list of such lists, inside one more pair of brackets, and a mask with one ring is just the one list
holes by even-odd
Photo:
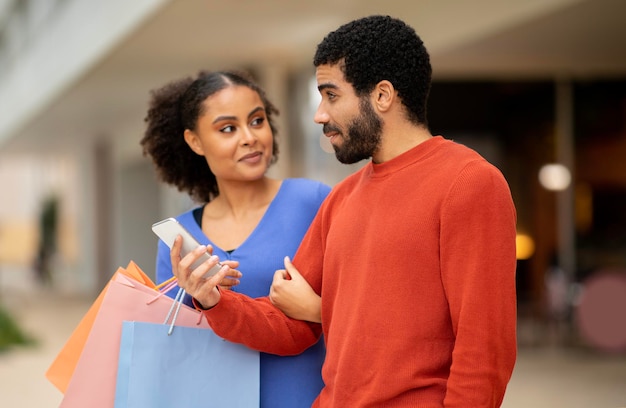
[[[119, 275], [132, 277], [136, 281], [141, 282], [148, 287], [155, 286], [152, 280], [133, 261], [131, 261], [126, 268], [118, 268], [118, 270], [113, 274], [111, 280], [116, 279]], [[91, 304], [89, 310], [85, 313], [80, 323], [78, 323], [78, 326], [76, 326], [69, 339], [48, 368], [48, 371], [46, 371], [46, 378], [48, 381], [50, 381], [63, 393], [67, 390], [67, 386], [70, 382], [70, 378], [72, 378], [72, 374], [74, 373], [76, 363], [78, 362], [80, 354], [83, 351], [83, 347], [87, 341], [87, 337], [96, 318], [96, 314], [100, 310], [102, 299], [104, 298], [104, 294], [108, 288], [109, 284], [107, 283], [96, 300]]]

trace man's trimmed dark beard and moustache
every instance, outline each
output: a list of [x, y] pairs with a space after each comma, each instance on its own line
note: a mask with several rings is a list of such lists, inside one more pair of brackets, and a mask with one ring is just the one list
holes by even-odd
[[[347, 133], [341, 134], [343, 145], [333, 145], [337, 160], [343, 164], [352, 164], [372, 157], [380, 144], [382, 120], [376, 115], [367, 98], [361, 98], [359, 108], [359, 116], [352, 119]], [[324, 125], [324, 133], [326, 129], [338, 131], [330, 125]]]

